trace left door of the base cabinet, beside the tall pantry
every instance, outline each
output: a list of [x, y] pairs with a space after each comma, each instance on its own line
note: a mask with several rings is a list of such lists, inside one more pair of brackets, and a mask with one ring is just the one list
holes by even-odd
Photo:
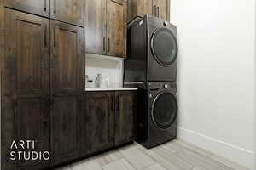
[[113, 93], [88, 92], [86, 94], [86, 135], [89, 154], [113, 147]]

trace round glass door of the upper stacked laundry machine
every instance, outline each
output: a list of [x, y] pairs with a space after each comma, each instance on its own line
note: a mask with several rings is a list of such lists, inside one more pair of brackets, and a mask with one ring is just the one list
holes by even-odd
[[151, 38], [151, 50], [160, 65], [170, 66], [177, 59], [177, 40], [166, 27], [158, 28]]

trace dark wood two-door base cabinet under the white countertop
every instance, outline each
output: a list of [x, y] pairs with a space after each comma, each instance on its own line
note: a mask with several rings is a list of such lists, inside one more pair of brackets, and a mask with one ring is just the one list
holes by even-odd
[[129, 143], [136, 136], [136, 92], [87, 92], [88, 154]]

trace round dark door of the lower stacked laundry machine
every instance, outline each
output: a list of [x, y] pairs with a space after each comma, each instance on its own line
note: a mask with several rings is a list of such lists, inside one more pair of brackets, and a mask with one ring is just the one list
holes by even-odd
[[168, 92], [158, 94], [152, 106], [152, 119], [161, 129], [172, 126], [177, 118], [177, 99]]

